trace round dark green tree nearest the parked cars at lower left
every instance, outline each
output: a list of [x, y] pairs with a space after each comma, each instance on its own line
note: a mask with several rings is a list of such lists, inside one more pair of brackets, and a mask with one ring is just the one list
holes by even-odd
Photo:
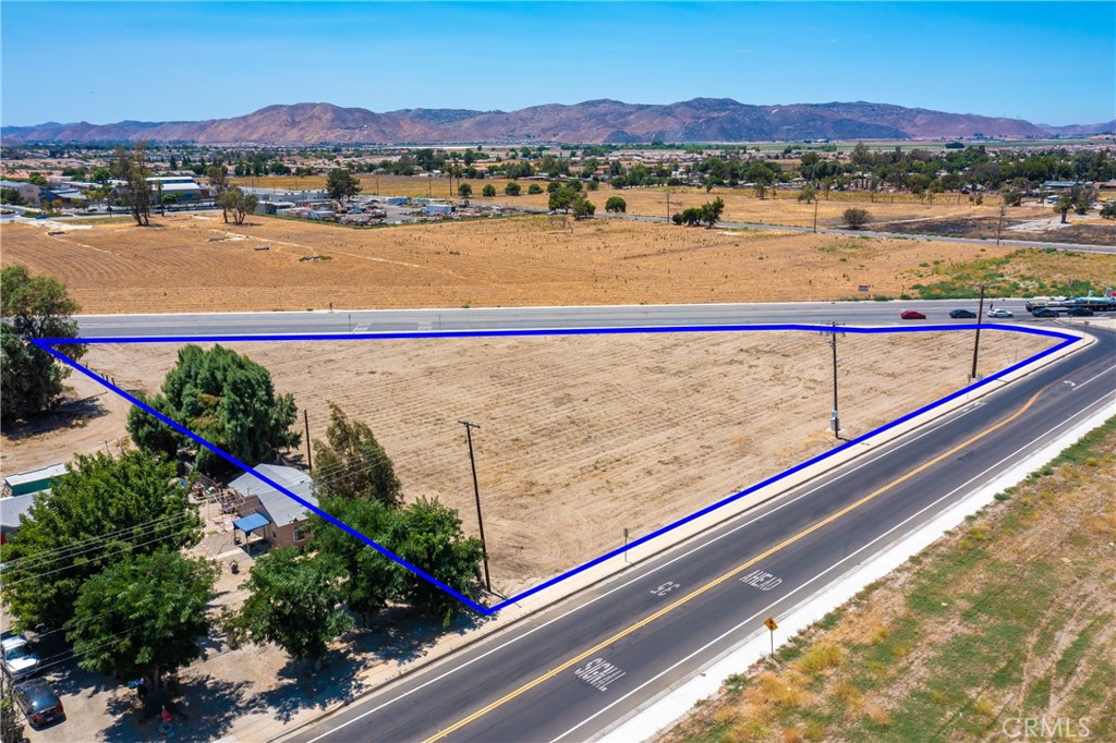
[[158, 688], [164, 673], [198, 659], [199, 637], [220, 569], [179, 551], [131, 554], [89, 579], [74, 607], [78, 665], [119, 678], [144, 677]]

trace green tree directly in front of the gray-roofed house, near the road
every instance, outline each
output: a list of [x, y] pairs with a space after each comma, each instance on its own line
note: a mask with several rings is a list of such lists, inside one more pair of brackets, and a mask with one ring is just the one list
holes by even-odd
[[273, 643], [288, 655], [320, 662], [330, 640], [354, 627], [345, 589], [331, 559], [272, 550], [256, 561], [240, 611], [225, 623], [230, 635], [257, 645]]

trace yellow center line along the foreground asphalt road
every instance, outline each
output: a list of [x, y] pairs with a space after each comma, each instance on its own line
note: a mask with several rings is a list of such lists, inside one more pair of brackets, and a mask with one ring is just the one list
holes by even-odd
[[473, 721], [475, 721], [475, 720], [478, 720], [480, 717], [483, 717], [484, 715], [487, 715], [488, 713], [492, 712], [493, 710], [496, 710], [496, 708], [498, 708], [500, 706], [503, 706], [504, 704], [507, 704], [508, 702], [514, 699], [516, 697], [518, 697], [518, 696], [520, 696], [520, 695], [522, 695], [522, 694], [531, 691], [532, 688], [535, 688], [539, 684], [542, 684], [543, 682], [547, 682], [547, 681], [554, 678], [555, 676], [557, 676], [558, 674], [562, 673], [564, 670], [567, 670], [570, 667], [577, 665], [578, 663], [580, 663], [581, 660], [586, 659], [590, 655], [594, 655], [594, 654], [603, 650], [604, 648], [606, 648], [609, 645], [616, 643], [617, 640], [624, 639], [625, 637], [627, 637], [632, 633], [637, 631], [637, 630], [642, 629], [643, 627], [646, 627], [647, 625], [650, 625], [651, 623], [655, 621], [660, 617], [663, 617], [664, 615], [667, 615], [671, 611], [677, 609], [680, 606], [689, 604], [690, 601], [692, 601], [693, 599], [698, 598], [699, 596], [705, 594], [706, 591], [712, 590], [713, 588], [716, 588], [718, 586], [720, 586], [724, 581], [729, 580], [733, 576], [735, 576], [735, 575], [744, 571], [744, 570], [747, 570], [748, 568], [752, 567], [753, 565], [756, 565], [760, 560], [763, 560], [766, 558], [771, 557], [776, 552], [786, 549], [787, 547], [789, 547], [789, 546], [793, 544], [795, 542], [797, 542], [797, 541], [799, 541], [799, 540], [808, 537], [809, 534], [812, 534], [818, 529], [821, 529], [822, 527], [825, 527], [825, 525], [827, 525], [829, 523], [833, 523], [834, 521], [836, 521], [837, 519], [839, 519], [843, 515], [847, 514], [848, 512], [850, 512], [850, 511], [853, 511], [855, 509], [860, 508], [862, 505], [864, 505], [865, 503], [872, 501], [875, 498], [878, 498], [881, 494], [887, 492], [892, 488], [894, 488], [894, 486], [896, 486], [896, 485], [898, 485], [901, 483], [906, 482], [911, 477], [914, 477], [915, 475], [920, 474], [921, 472], [926, 471], [927, 469], [934, 466], [939, 462], [953, 456], [954, 454], [956, 454], [961, 450], [963, 450], [963, 448], [972, 445], [973, 443], [980, 441], [984, 436], [988, 436], [989, 434], [993, 433], [994, 431], [998, 431], [999, 428], [1002, 428], [1003, 426], [1008, 425], [1009, 423], [1011, 423], [1012, 421], [1014, 421], [1016, 418], [1018, 418], [1019, 416], [1021, 416], [1023, 413], [1026, 413], [1031, 407], [1031, 405], [1035, 404], [1035, 401], [1037, 401], [1039, 398], [1039, 395], [1041, 395], [1042, 393], [1045, 393], [1048, 388], [1049, 387], [1043, 387], [1042, 389], [1040, 389], [1037, 393], [1035, 393], [1035, 395], [1029, 401], [1027, 401], [1027, 404], [1024, 404], [1021, 408], [1019, 408], [1018, 411], [1016, 411], [1014, 413], [1012, 413], [1009, 417], [1007, 417], [1003, 421], [1000, 421], [999, 423], [997, 423], [994, 426], [991, 426], [990, 428], [985, 428], [984, 431], [982, 431], [979, 434], [974, 435], [972, 438], [969, 438], [968, 441], [958, 444], [956, 446], [954, 446], [950, 451], [945, 452], [944, 454], [935, 456], [933, 460], [926, 462], [925, 464], [922, 464], [922, 465], [915, 467], [914, 470], [911, 470], [906, 474], [904, 474], [904, 475], [902, 475], [899, 477], [896, 477], [895, 480], [891, 481], [889, 483], [887, 483], [886, 485], [879, 488], [878, 490], [873, 491], [872, 493], [868, 493], [867, 495], [865, 495], [860, 500], [856, 501], [855, 503], [850, 503], [849, 505], [846, 505], [840, 511], [837, 511], [836, 513], [833, 513], [831, 515], [826, 517], [821, 521], [818, 521], [817, 523], [815, 523], [815, 524], [812, 524], [812, 525], [804, 529], [802, 531], [798, 532], [793, 537], [787, 538], [786, 540], [783, 540], [779, 544], [776, 544], [775, 547], [772, 547], [771, 549], [767, 550], [766, 552], [757, 554], [751, 560], [748, 560], [747, 562], [744, 562], [744, 563], [742, 563], [742, 565], [733, 568], [732, 570], [730, 570], [727, 573], [724, 573], [723, 576], [721, 576], [719, 578], [714, 578], [713, 580], [711, 580], [710, 582], [705, 583], [701, 588], [698, 588], [694, 591], [692, 591], [691, 594], [687, 594], [686, 596], [683, 596], [682, 598], [677, 599], [673, 604], [663, 607], [658, 611], [655, 611], [654, 614], [648, 615], [647, 617], [644, 617], [643, 619], [641, 619], [639, 621], [635, 623], [634, 625], [627, 627], [626, 629], [622, 629], [620, 631], [616, 633], [615, 635], [613, 635], [608, 639], [602, 640], [600, 643], [594, 645], [588, 650], [585, 650], [584, 653], [580, 653], [580, 654], [574, 656], [569, 660], [566, 660], [561, 665], [551, 668], [550, 670], [546, 672], [541, 676], [538, 676], [537, 678], [535, 678], [535, 679], [532, 679], [532, 681], [523, 684], [519, 688], [517, 688], [517, 689], [514, 689], [512, 692], [509, 692], [508, 694], [503, 695], [502, 697], [500, 697], [496, 702], [492, 702], [488, 706], [485, 706], [485, 707], [483, 707], [481, 710], [478, 710], [477, 712], [474, 712], [473, 714], [469, 715], [468, 717], [463, 717], [462, 720], [458, 721], [453, 725], [450, 725], [445, 730], [439, 731], [437, 733], [435, 733], [431, 737], [426, 739], [423, 743], [433, 743], [434, 741], [439, 741], [439, 740], [445, 737], [446, 735], [449, 735], [449, 734], [451, 734], [451, 733], [453, 733], [453, 732], [455, 732], [458, 730], [461, 730], [462, 727], [464, 727], [469, 723], [471, 723], [471, 722], [473, 722]]

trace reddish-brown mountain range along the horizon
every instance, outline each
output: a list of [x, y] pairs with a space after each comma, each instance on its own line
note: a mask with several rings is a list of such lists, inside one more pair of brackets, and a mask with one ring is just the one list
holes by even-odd
[[668, 105], [586, 100], [513, 112], [408, 108], [384, 114], [331, 104], [277, 105], [205, 122], [48, 123], [0, 129], [3, 144], [26, 142], [195, 142], [202, 144], [448, 144], [460, 142], [792, 142], [1083, 136], [1116, 122], [1052, 127], [1016, 118], [950, 114], [873, 103], [751, 106], [731, 98]]

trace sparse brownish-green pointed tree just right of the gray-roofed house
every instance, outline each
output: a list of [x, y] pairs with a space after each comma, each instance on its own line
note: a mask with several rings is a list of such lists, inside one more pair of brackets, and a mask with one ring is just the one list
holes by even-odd
[[395, 467], [372, 428], [350, 421], [334, 403], [326, 441], [314, 442], [314, 459], [315, 484], [326, 496], [374, 500], [393, 508], [403, 502]]

